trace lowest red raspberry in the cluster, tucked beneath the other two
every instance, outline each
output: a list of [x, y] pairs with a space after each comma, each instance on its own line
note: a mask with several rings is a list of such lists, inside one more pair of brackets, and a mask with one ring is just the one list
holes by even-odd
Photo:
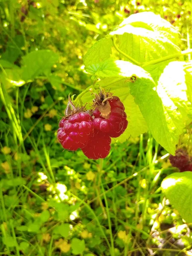
[[82, 148], [84, 155], [90, 159], [105, 158], [111, 149], [111, 138], [101, 131], [94, 130], [87, 145]]

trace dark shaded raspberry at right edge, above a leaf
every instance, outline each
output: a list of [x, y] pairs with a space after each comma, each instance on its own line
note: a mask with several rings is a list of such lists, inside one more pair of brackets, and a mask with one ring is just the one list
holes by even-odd
[[189, 157], [186, 150], [179, 148], [175, 151], [175, 156], [170, 155], [169, 160], [172, 166], [177, 167], [180, 172], [192, 172], [192, 157]]

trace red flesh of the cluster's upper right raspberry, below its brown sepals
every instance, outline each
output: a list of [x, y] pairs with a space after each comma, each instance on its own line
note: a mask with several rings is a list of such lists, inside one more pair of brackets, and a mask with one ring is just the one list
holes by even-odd
[[127, 115], [124, 112], [124, 105], [117, 96], [113, 96], [113, 99], [109, 99], [108, 102], [111, 106], [111, 114], [108, 119], [101, 116], [98, 108], [93, 111], [93, 116], [95, 116], [94, 128], [107, 133], [112, 138], [116, 138], [127, 128]]

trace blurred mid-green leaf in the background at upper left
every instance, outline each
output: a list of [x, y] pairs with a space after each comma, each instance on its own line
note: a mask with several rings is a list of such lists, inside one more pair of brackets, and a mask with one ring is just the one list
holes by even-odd
[[58, 54], [49, 50], [30, 52], [23, 57], [23, 80], [35, 79], [36, 76], [50, 73], [51, 67], [58, 61]]

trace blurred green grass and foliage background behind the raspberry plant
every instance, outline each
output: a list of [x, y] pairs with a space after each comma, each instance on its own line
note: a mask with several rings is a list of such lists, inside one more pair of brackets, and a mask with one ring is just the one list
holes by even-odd
[[69, 93], [92, 84], [87, 49], [143, 11], [191, 48], [188, 0], [0, 0], [0, 255], [192, 255], [192, 225], [159, 188], [178, 170], [150, 133], [103, 165], [56, 139]]

